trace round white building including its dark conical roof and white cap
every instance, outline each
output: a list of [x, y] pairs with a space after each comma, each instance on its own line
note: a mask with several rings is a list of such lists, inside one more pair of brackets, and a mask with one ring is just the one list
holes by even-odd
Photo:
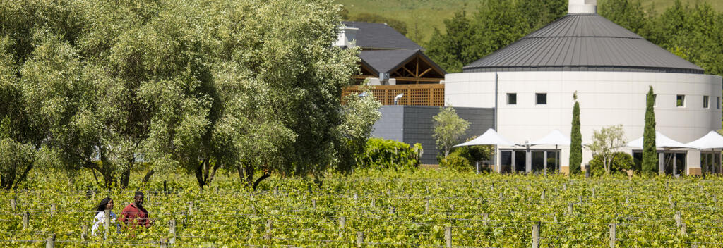
[[[498, 133], [525, 143], [555, 129], [570, 136], [577, 92], [583, 144], [591, 142], [594, 130], [618, 124], [631, 141], [643, 135], [646, 94], [652, 86], [659, 132], [688, 143], [721, 128], [720, 76], [703, 74], [703, 68], [615, 25], [595, 9], [595, 1], [570, 0], [567, 16], [465, 66], [463, 73], [447, 74], [445, 105], [495, 107], [497, 94]], [[560, 149], [559, 169], [565, 172], [570, 150]], [[496, 164], [505, 164], [502, 159], [509, 156], [523, 159], [512, 151], [497, 156]], [[685, 160], [681, 169], [686, 174], [701, 173], [700, 152], [672, 156]], [[583, 164], [591, 159], [583, 149]]]

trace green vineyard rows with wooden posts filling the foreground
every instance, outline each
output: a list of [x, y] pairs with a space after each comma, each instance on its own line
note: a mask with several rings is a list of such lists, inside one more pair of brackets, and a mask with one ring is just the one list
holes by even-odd
[[[2, 247], [723, 247], [723, 177], [543, 177], [445, 170], [271, 177], [255, 192], [221, 175], [87, 190], [40, 177], [0, 192]], [[137, 180], [138, 181], [138, 180]], [[91, 236], [93, 208], [145, 192], [150, 229]], [[48, 244], [52, 243], [52, 244]]]

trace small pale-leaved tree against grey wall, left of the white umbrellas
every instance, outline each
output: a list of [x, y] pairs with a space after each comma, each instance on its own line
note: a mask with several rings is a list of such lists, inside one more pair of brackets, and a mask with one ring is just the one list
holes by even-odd
[[440, 112], [432, 117], [432, 126], [432, 137], [446, 157], [469, 128], [469, 121], [460, 118], [453, 107], [440, 107]]

